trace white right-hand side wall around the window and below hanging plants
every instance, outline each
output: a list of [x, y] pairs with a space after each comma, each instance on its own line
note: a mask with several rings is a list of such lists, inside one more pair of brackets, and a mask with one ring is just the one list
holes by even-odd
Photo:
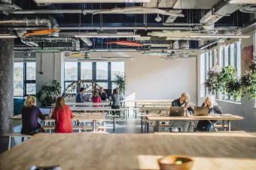
[[[248, 39], [242, 39], [242, 49], [246, 46], [254, 45], [254, 31], [251, 31], [248, 33], [251, 35]], [[218, 55], [219, 56], [219, 55]], [[200, 55], [197, 60], [198, 64], [198, 77], [200, 79]], [[245, 72], [245, 70], [242, 70], [242, 74]], [[197, 90], [198, 90], [198, 105], [201, 105], [203, 101], [205, 100], [205, 97], [200, 97], [200, 81], [197, 83]], [[256, 115], [254, 112], [256, 112], [255, 106], [255, 100], [247, 100], [248, 97], [245, 97], [242, 99], [242, 103], [230, 103], [227, 101], [221, 101], [218, 100], [218, 105], [221, 106], [221, 109], [224, 113], [230, 113], [233, 115], [240, 115], [243, 118], [245, 118], [242, 121], [232, 121], [231, 126], [237, 127], [241, 130], [245, 130], [248, 132], [255, 132], [256, 131]]]

